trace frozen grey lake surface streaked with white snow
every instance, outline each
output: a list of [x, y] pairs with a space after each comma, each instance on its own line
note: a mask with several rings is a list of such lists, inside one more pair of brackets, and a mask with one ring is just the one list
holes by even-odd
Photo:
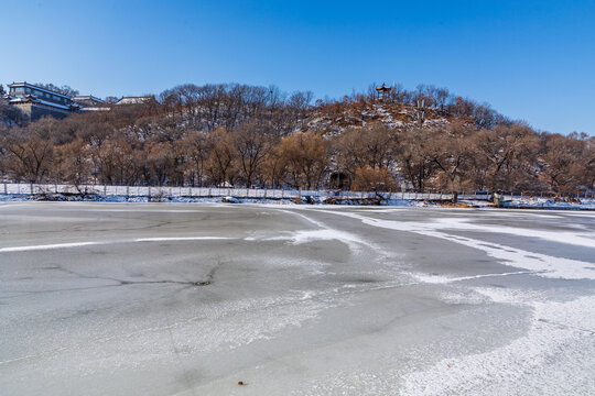
[[593, 395], [595, 213], [1, 204], [0, 333], [2, 395]]

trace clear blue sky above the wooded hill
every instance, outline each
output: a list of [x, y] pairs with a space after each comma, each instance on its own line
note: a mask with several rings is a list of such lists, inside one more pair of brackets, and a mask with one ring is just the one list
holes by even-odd
[[178, 84], [340, 98], [420, 82], [595, 134], [595, 1], [1, 0], [0, 82], [100, 97]]

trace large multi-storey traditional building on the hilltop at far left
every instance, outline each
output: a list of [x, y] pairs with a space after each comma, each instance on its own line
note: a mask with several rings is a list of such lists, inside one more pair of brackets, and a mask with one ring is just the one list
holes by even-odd
[[9, 85], [9, 103], [20, 111], [22, 119], [29, 121], [35, 121], [45, 116], [62, 119], [77, 108], [67, 95], [26, 81]]

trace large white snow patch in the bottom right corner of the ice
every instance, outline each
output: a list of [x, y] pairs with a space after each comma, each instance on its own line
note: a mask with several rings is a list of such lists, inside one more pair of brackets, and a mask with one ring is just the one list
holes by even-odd
[[403, 377], [401, 395], [586, 395], [595, 388], [595, 297], [531, 301], [482, 290], [498, 302], [533, 309], [528, 333], [479, 354], [444, 359]]

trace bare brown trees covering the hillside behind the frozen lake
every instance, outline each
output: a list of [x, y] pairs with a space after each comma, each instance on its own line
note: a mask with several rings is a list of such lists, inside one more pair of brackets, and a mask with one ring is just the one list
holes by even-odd
[[[378, 109], [404, 121], [356, 123], [340, 133], [315, 122]], [[594, 138], [538, 133], [428, 86], [397, 86], [382, 100], [372, 86], [312, 105], [311, 92], [288, 96], [275, 87], [184, 85], [143, 105], [3, 127], [0, 144], [3, 177], [75, 185], [571, 195], [595, 183]]]

